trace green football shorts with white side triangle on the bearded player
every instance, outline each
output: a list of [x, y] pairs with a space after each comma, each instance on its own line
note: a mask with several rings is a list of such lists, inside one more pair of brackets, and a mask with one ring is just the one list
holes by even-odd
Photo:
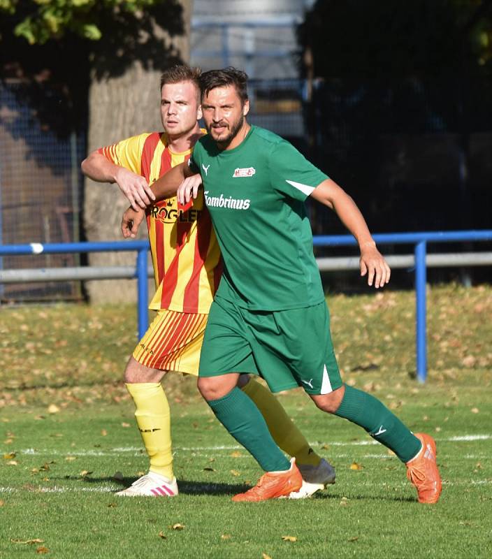
[[342, 386], [326, 303], [249, 311], [217, 298], [210, 307], [198, 376], [252, 372], [272, 392], [302, 386], [327, 394]]

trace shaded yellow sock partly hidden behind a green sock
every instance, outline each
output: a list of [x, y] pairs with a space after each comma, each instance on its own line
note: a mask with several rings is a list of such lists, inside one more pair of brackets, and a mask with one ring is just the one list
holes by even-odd
[[265, 386], [250, 378], [242, 390], [256, 404], [268, 425], [273, 440], [284, 452], [295, 456], [298, 464], [313, 466], [319, 464], [321, 457], [309, 446], [304, 435], [292, 423], [280, 402]]

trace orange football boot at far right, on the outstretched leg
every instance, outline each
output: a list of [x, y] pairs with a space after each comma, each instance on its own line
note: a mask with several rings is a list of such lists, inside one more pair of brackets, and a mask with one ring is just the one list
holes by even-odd
[[414, 433], [422, 443], [421, 451], [407, 462], [407, 478], [417, 488], [419, 502], [432, 504], [442, 491], [441, 477], [435, 461], [435, 440], [426, 433]]

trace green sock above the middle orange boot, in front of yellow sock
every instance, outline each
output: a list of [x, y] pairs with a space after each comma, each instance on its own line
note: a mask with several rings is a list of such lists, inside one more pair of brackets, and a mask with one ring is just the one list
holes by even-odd
[[259, 409], [237, 386], [219, 400], [210, 400], [208, 405], [229, 434], [252, 453], [263, 470], [289, 470], [289, 460], [275, 444]]

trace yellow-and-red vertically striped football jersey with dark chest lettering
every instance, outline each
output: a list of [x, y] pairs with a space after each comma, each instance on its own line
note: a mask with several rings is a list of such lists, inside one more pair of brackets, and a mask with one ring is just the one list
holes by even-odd
[[[99, 153], [152, 184], [189, 159], [191, 150], [171, 152], [166, 133], [152, 132], [101, 147]], [[156, 286], [149, 308], [208, 313], [222, 268], [203, 192], [189, 210], [180, 210], [174, 197], [155, 203], [146, 213]]]

